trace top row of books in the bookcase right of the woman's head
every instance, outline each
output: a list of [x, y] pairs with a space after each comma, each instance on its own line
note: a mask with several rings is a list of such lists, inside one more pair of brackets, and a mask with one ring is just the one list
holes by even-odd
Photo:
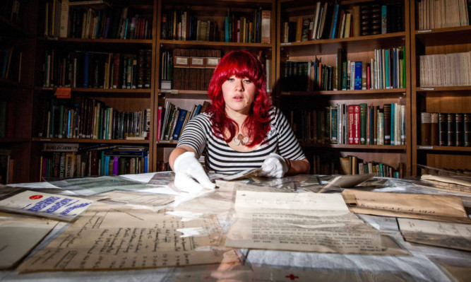
[[400, 2], [355, 5], [350, 10], [334, 1], [318, 1], [314, 16], [282, 25], [282, 43], [397, 33], [403, 31]]

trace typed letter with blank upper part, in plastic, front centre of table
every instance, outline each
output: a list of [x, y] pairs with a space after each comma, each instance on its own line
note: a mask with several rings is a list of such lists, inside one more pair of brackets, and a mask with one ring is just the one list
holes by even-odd
[[348, 211], [340, 194], [237, 191], [226, 246], [344, 254], [405, 254]]

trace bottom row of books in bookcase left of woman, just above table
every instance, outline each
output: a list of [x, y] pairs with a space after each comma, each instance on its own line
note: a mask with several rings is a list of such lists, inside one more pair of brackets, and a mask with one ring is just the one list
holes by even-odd
[[40, 158], [42, 180], [148, 172], [148, 148], [78, 143], [44, 143]]

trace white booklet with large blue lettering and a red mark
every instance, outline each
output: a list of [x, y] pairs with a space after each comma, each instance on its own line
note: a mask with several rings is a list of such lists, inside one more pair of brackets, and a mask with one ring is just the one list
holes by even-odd
[[4, 211], [25, 213], [30, 216], [72, 221], [92, 203], [92, 200], [74, 196], [25, 190], [2, 199], [0, 208]]

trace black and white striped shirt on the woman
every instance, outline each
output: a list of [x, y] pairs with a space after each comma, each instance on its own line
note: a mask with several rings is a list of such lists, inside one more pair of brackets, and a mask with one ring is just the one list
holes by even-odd
[[177, 146], [186, 145], [193, 148], [198, 154], [197, 158], [205, 156], [205, 166], [208, 170], [222, 173], [260, 168], [270, 153], [278, 153], [290, 160], [306, 158], [281, 110], [272, 107], [269, 114], [270, 130], [266, 136], [267, 142], [254, 151], [235, 151], [224, 140], [214, 136], [212, 122], [206, 113], [198, 114], [186, 124]]

